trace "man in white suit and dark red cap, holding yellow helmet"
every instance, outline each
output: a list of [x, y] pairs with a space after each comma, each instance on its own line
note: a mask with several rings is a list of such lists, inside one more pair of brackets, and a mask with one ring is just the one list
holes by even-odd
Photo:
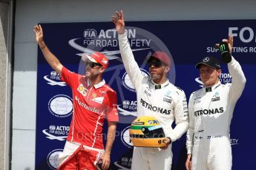
[[[188, 129], [186, 95], [168, 81], [171, 59], [165, 52], [154, 52], [148, 59], [149, 76], [142, 75], [134, 60], [128, 38], [125, 35], [125, 21], [122, 11], [112, 16], [119, 33], [119, 49], [125, 70], [137, 91], [137, 113], [154, 116], [163, 126], [166, 143], [161, 148], [134, 147], [131, 169], [170, 170], [172, 163], [171, 143], [179, 139]], [[172, 129], [171, 124], [176, 126]]]

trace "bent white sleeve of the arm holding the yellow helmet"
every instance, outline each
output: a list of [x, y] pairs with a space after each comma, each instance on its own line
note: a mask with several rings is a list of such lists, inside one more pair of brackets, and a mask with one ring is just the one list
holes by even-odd
[[177, 103], [175, 103], [174, 116], [176, 126], [170, 133], [166, 134], [167, 137], [171, 137], [172, 142], [179, 139], [188, 129], [188, 106], [183, 91], [179, 92]]

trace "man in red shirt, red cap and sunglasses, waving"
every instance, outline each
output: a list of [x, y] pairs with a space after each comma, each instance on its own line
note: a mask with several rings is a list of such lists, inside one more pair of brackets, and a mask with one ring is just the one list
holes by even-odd
[[[108, 58], [100, 52], [87, 55], [85, 75], [78, 75], [63, 67], [50, 52], [40, 25], [34, 27], [34, 32], [46, 61], [62, 76], [62, 81], [70, 86], [73, 94], [73, 116], [65, 148], [59, 154], [58, 169], [96, 169], [98, 161], [102, 161], [102, 169], [108, 169], [119, 120], [116, 92], [102, 79]], [[108, 134], [104, 149], [102, 127], [105, 118], [108, 120]]]

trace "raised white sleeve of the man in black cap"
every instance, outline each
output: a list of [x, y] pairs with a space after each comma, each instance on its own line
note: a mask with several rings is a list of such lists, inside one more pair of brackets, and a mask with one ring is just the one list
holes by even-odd
[[244, 86], [246, 85], [246, 77], [243, 74], [242, 67], [232, 56], [232, 61], [228, 64], [229, 73], [232, 76], [232, 84], [230, 87], [230, 97], [232, 103], [235, 103], [240, 95], [242, 95]]

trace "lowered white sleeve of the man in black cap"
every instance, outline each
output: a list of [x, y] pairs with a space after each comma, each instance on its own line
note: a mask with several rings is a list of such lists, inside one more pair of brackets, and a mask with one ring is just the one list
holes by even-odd
[[192, 148], [193, 148], [193, 137], [194, 137], [194, 103], [193, 103], [193, 95], [194, 92], [190, 95], [189, 101], [188, 101], [188, 131], [187, 131], [187, 140], [186, 140], [186, 148], [187, 148], [187, 154], [192, 154]]

